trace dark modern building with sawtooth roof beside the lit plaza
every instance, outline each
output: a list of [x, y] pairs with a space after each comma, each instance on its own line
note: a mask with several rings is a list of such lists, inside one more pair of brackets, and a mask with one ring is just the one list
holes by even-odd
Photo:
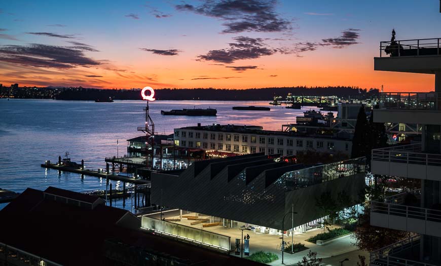
[[[292, 208], [298, 212], [294, 231], [316, 228], [324, 216], [316, 198], [323, 192], [348, 195], [345, 208], [360, 203], [364, 158], [315, 166], [276, 160], [254, 153], [195, 161], [179, 175], [152, 173], [152, 203], [210, 216], [225, 227], [251, 224], [273, 235], [281, 235], [283, 217]], [[285, 234], [291, 226], [286, 219]]]

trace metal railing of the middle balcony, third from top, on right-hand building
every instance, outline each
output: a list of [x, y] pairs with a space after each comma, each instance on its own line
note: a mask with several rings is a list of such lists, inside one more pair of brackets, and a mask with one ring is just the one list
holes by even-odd
[[410, 144], [372, 150], [373, 161], [434, 165], [441, 167], [441, 154], [421, 152], [421, 144]]

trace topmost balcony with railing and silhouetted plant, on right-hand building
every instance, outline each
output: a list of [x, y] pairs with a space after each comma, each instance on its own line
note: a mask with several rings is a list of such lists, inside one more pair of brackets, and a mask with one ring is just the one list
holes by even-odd
[[374, 58], [374, 69], [434, 74], [441, 69], [441, 38], [380, 42], [380, 57]]

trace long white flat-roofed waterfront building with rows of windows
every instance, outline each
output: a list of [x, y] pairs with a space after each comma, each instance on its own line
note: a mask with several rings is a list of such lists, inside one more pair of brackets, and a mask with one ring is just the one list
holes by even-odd
[[265, 153], [296, 155], [307, 150], [349, 154], [352, 141], [333, 135], [310, 135], [302, 132], [263, 130], [261, 126], [205, 125], [174, 129], [174, 143], [179, 147], [222, 153]]

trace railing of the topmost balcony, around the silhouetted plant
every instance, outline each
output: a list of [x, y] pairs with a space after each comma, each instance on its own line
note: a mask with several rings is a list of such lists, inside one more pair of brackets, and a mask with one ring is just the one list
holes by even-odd
[[440, 40], [441, 38], [380, 42], [380, 57], [439, 55]]

